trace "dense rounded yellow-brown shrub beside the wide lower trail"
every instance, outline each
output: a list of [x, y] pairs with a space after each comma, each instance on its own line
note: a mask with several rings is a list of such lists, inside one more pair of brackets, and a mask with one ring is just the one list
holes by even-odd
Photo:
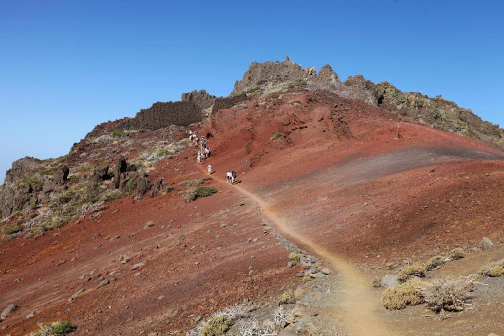
[[389, 287], [382, 294], [382, 302], [385, 308], [390, 310], [416, 306], [423, 301], [420, 291], [423, 286], [425, 284], [422, 282], [408, 281], [401, 285]]

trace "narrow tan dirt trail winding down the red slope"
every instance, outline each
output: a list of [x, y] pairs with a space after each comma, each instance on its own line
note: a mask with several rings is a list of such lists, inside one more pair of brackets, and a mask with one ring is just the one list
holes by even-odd
[[[219, 177], [212, 177], [220, 183], [226, 183]], [[246, 195], [250, 200], [255, 201], [261, 207], [263, 213], [280, 231], [293, 238], [297, 243], [308, 247], [319, 257], [324, 258], [339, 272], [340, 277], [338, 279], [342, 280], [343, 298], [341, 301], [335, 303], [334, 317], [343, 321], [344, 325], [339, 325], [338, 327], [345, 328], [351, 335], [400, 334], [389, 329], [380, 320], [380, 313], [378, 312], [380, 307], [377, 303], [381, 300], [377, 297], [377, 292], [370, 290], [369, 279], [360, 274], [350, 262], [296, 232], [285, 220], [278, 217], [275, 210], [261, 197], [238, 185], [233, 185], [233, 187]]]

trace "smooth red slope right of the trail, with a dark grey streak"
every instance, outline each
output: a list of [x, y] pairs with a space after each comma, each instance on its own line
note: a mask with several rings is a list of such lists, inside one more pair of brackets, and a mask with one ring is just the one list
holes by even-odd
[[[297, 92], [221, 110], [205, 128], [215, 167], [241, 171], [249, 160], [241, 186], [294, 230], [368, 262], [502, 237], [501, 150], [360, 101]], [[271, 141], [277, 131], [284, 136]]]

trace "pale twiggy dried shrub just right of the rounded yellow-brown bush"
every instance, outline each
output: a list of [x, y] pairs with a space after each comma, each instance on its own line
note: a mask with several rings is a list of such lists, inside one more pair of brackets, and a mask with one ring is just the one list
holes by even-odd
[[439, 314], [439, 319], [448, 318], [446, 311], [461, 311], [472, 298], [474, 278], [434, 280], [420, 289], [427, 308]]

